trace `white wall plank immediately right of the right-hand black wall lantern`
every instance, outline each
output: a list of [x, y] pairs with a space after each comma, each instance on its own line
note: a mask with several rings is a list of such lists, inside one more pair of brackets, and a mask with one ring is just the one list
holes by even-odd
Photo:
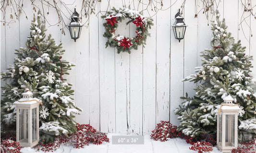
[[[195, 73], [196, 67], [196, 58], [197, 58], [197, 18], [195, 18], [194, 8], [191, 6], [195, 5], [194, 0], [186, 1], [186, 5], [184, 7], [184, 22], [187, 24], [185, 36], [184, 36], [184, 77], [189, 76], [190, 74]], [[194, 45], [193, 45], [194, 44]], [[188, 96], [195, 95], [196, 84], [194, 82], [184, 82], [184, 93]]]

